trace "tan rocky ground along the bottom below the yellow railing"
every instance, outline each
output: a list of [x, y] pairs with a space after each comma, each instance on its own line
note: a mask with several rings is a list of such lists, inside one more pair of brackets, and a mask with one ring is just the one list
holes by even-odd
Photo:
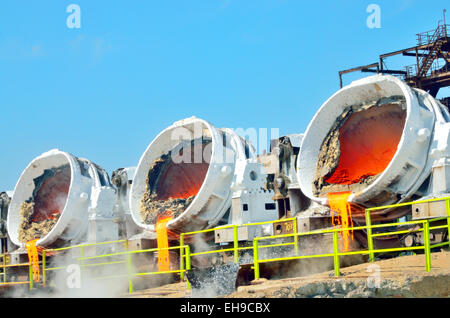
[[[386, 298], [449, 297], [450, 252], [432, 254], [432, 270], [425, 271], [424, 255], [401, 256], [305, 277], [253, 281], [227, 298]], [[135, 292], [128, 297], [191, 297], [185, 283]]]

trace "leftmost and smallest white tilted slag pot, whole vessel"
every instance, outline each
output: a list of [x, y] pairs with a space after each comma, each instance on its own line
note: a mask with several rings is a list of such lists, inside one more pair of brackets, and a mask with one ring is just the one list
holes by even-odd
[[57, 149], [22, 172], [8, 210], [7, 230], [18, 246], [11, 263], [26, 258], [25, 244], [55, 248], [119, 238], [115, 189], [104, 169]]

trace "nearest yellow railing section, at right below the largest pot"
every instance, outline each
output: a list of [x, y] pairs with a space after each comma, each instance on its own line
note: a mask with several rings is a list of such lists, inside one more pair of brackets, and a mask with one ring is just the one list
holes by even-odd
[[[446, 204], [445, 204], [446, 214], [447, 214], [446, 217], [426, 219], [426, 220], [407, 221], [407, 222], [396, 222], [396, 223], [388, 223], [388, 224], [376, 224], [376, 225], [372, 225], [372, 223], [371, 223], [371, 217], [370, 217], [371, 211], [384, 210], [384, 209], [395, 208], [395, 207], [403, 207], [403, 206], [408, 206], [408, 205], [413, 205], [413, 204], [418, 204], [418, 203], [444, 201], [444, 200], [446, 202]], [[402, 251], [405, 252], [405, 251], [414, 251], [414, 250], [423, 250], [424, 251], [425, 270], [427, 272], [429, 272], [431, 270], [431, 249], [445, 246], [445, 245], [450, 246], [450, 239], [448, 237], [447, 237], [447, 242], [437, 243], [437, 244], [433, 244], [433, 245], [431, 245], [431, 243], [430, 243], [430, 231], [431, 230], [447, 229], [447, 231], [449, 233], [448, 236], [450, 236], [450, 197], [393, 204], [393, 205], [381, 206], [381, 207], [376, 207], [376, 208], [369, 208], [369, 209], [366, 209], [366, 211], [365, 211], [365, 217], [366, 217], [366, 225], [365, 226], [356, 226], [356, 227], [350, 227], [350, 228], [335, 228], [335, 229], [329, 229], [329, 230], [317, 230], [317, 231], [311, 231], [311, 232], [273, 235], [273, 236], [264, 236], [264, 237], [255, 238], [253, 240], [253, 259], [254, 259], [255, 279], [260, 278], [260, 264], [261, 263], [307, 259], [307, 258], [333, 257], [333, 259], [334, 259], [334, 275], [336, 277], [338, 277], [338, 276], [340, 276], [339, 256], [367, 254], [367, 255], [369, 255], [369, 261], [374, 262], [376, 253], [389, 253], [389, 252], [402, 252]], [[447, 221], [447, 225], [439, 225], [439, 226], [433, 226], [433, 227], [430, 226], [430, 223], [437, 222], [437, 221], [443, 221], [443, 220]], [[421, 225], [421, 228], [420, 229], [394, 231], [394, 232], [382, 232], [382, 233], [375, 233], [375, 234], [372, 233], [373, 229], [379, 229], [379, 228], [384, 228], [384, 227], [397, 227], [397, 226], [403, 226], [403, 225], [419, 225], [419, 226]], [[339, 244], [338, 244], [339, 232], [355, 231], [355, 230], [366, 230], [367, 231], [367, 242], [368, 242], [367, 250], [340, 252]], [[423, 233], [423, 236], [424, 236], [424, 245], [423, 246], [374, 249], [374, 246], [373, 246], [373, 238], [374, 237], [407, 234], [407, 233], [414, 233], [414, 232], [422, 232]], [[279, 257], [279, 258], [272, 258], [272, 259], [260, 259], [259, 258], [260, 248], [276, 246], [276, 244], [260, 246], [259, 245], [260, 241], [268, 240], [268, 239], [287, 238], [287, 237], [293, 237], [294, 240], [297, 241], [300, 236], [311, 236], [311, 235], [327, 234], [327, 233], [331, 233], [333, 235], [333, 253], [301, 255], [301, 256], [298, 256], [298, 253], [296, 253], [297, 256]]]

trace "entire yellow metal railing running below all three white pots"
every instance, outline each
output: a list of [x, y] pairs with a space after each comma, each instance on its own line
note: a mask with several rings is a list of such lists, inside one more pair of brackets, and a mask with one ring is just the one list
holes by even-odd
[[[372, 222], [371, 222], [370, 214], [372, 211], [404, 207], [404, 206], [410, 206], [410, 205], [418, 204], [418, 203], [429, 203], [429, 202], [435, 202], [435, 201], [445, 201], [446, 214], [447, 214], [446, 217], [439, 217], [439, 218], [425, 219], [425, 220], [414, 220], [414, 221], [406, 221], [406, 222], [392, 222], [392, 223], [387, 223], [387, 224], [372, 224]], [[240, 257], [239, 252], [244, 251], [244, 250], [253, 251], [253, 266], [254, 266], [253, 268], [254, 268], [254, 273], [255, 273], [255, 279], [259, 279], [260, 278], [260, 264], [262, 264], [262, 263], [287, 261], [287, 260], [298, 260], [298, 259], [307, 259], [307, 258], [332, 257], [334, 260], [334, 275], [340, 276], [340, 261], [339, 261], [340, 256], [368, 255], [369, 261], [374, 262], [375, 254], [378, 254], [378, 253], [407, 252], [407, 251], [418, 251], [418, 250], [424, 251], [425, 270], [430, 271], [431, 270], [431, 250], [433, 248], [437, 248], [437, 247], [450, 246], [450, 241], [449, 241], [448, 237], [447, 237], [446, 242], [441, 242], [441, 243], [437, 243], [437, 244], [431, 244], [431, 242], [430, 242], [430, 232], [433, 230], [446, 229], [448, 231], [448, 233], [450, 233], [450, 197], [369, 208], [369, 209], [365, 210], [365, 218], [366, 218], [366, 224], [364, 226], [314, 230], [314, 231], [310, 231], [310, 232], [300, 232], [300, 233], [297, 230], [297, 218], [295, 218], [295, 217], [289, 218], [289, 219], [272, 220], [272, 221], [265, 221], [265, 222], [255, 222], [255, 223], [248, 223], [248, 224], [232, 224], [232, 225], [226, 225], [226, 226], [207, 229], [207, 230], [182, 233], [182, 234], [180, 234], [179, 246], [173, 246], [173, 247], [167, 247], [167, 248], [151, 248], [151, 249], [130, 251], [130, 250], [128, 250], [128, 241], [127, 240], [118, 240], [118, 241], [110, 241], [110, 242], [102, 242], [102, 243], [81, 244], [81, 245], [63, 247], [63, 248], [58, 248], [58, 249], [48, 249], [48, 250], [44, 250], [42, 252], [42, 273], [43, 273], [43, 281], [42, 282], [43, 282], [43, 285], [45, 286], [47, 283], [47, 272], [67, 268], [67, 264], [66, 264], [66, 266], [48, 267], [47, 260], [46, 260], [47, 254], [50, 252], [52, 252], [52, 253], [62, 252], [62, 251], [67, 251], [67, 250], [71, 250], [71, 249], [76, 249], [76, 248], [80, 249], [80, 251], [79, 251], [79, 255], [77, 257], [75, 257], [74, 259], [80, 265], [80, 268], [83, 270], [90, 268], [90, 267], [92, 268], [92, 267], [109, 266], [109, 265], [114, 265], [114, 264], [126, 264], [126, 270], [127, 270], [126, 273], [110, 275], [110, 276], [99, 276], [96, 279], [113, 279], [113, 278], [119, 278], [119, 277], [127, 277], [128, 291], [129, 291], [129, 293], [132, 293], [134, 290], [133, 279], [135, 277], [157, 275], [157, 274], [179, 273], [180, 280], [184, 281], [186, 271], [191, 269], [191, 258], [195, 257], [195, 256], [199, 256], [199, 255], [208, 255], [211, 253], [232, 252], [234, 263], [239, 264], [239, 257]], [[431, 226], [435, 222], [444, 221], [444, 220], [447, 221], [447, 224]], [[253, 239], [253, 244], [251, 246], [239, 246], [238, 229], [240, 227], [250, 227], [250, 226], [256, 226], [256, 225], [275, 224], [275, 223], [284, 223], [284, 222], [292, 222], [293, 233], [256, 237]], [[415, 227], [411, 228], [411, 229], [407, 229], [407, 230], [374, 233], [374, 230], [378, 230], [378, 229], [382, 229], [382, 228], [398, 227], [398, 226], [415, 226]], [[199, 252], [196, 251], [195, 253], [191, 253], [190, 246], [185, 244], [185, 240], [186, 240], [187, 236], [203, 234], [203, 233], [213, 232], [213, 231], [223, 230], [223, 229], [232, 229], [233, 230], [233, 240], [231, 242], [229, 242], [230, 244], [232, 244], [231, 248], [217, 248], [217, 249], [212, 249], [212, 250], [207, 250], [207, 251], [199, 251]], [[357, 230], [365, 230], [366, 231], [366, 233], [367, 233], [367, 249], [357, 250], [357, 251], [340, 251], [339, 250], [339, 233], [343, 232], [343, 231], [357, 231]], [[419, 233], [421, 232], [423, 234], [423, 238], [424, 238], [423, 245], [417, 245], [417, 246], [411, 246], [411, 247], [384, 248], [384, 249], [374, 248], [373, 239], [376, 237], [388, 236], [388, 235], [410, 234], [410, 233], [418, 233], [418, 232]], [[299, 255], [299, 238], [304, 237], [304, 236], [318, 235], [318, 234], [332, 234], [333, 251], [329, 252], [329, 253], [328, 252], [322, 253], [322, 254]], [[264, 241], [264, 240], [277, 240], [277, 239], [283, 239], [283, 238], [292, 238], [293, 241], [292, 242], [283, 241], [282, 243], [269, 243], [266, 245], [260, 245], [260, 242]], [[105, 244], [113, 244], [113, 243], [124, 243], [124, 248], [126, 248], [126, 250], [120, 251], [120, 252], [101, 254], [101, 255], [93, 255], [93, 256], [85, 256], [84, 255], [84, 250], [88, 247], [105, 245]], [[261, 249], [269, 248], [269, 247], [276, 247], [276, 246], [292, 246], [294, 248], [295, 254], [294, 254], [294, 256], [289, 256], [289, 257], [278, 257], [278, 258], [270, 258], [270, 259], [261, 259], [260, 258], [260, 250]], [[168, 270], [168, 271], [153, 271], [153, 272], [138, 272], [138, 271], [134, 270], [133, 258], [132, 258], [133, 255], [141, 254], [141, 253], [159, 252], [161, 250], [179, 250], [180, 266], [178, 269]], [[54, 257], [57, 257], [57, 255]], [[117, 258], [119, 258], [119, 259], [117, 259]], [[92, 263], [92, 261], [96, 261], [96, 262]], [[4, 260], [3, 260], [3, 265], [0, 265], [0, 267], [3, 267], [4, 269], [7, 267], [12, 267], [12, 266], [29, 266], [30, 267], [29, 281], [16, 282], [16, 283], [17, 284], [29, 283], [30, 289], [32, 289], [33, 288], [33, 273], [32, 273], [31, 265], [29, 263], [17, 264], [17, 265], [6, 265], [4, 263]], [[3, 275], [3, 280], [5, 283], [6, 274]], [[15, 284], [15, 282], [11, 282], [10, 284]], [[189, 281], [187, 281], [187, 288], [190, 288]]]

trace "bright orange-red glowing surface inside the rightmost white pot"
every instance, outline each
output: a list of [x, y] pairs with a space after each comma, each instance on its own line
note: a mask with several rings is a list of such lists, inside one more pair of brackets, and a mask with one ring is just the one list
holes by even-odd
[[386, 169], [397, 151], [406, 112], [390, 104], [353, 113], [339, 130], [340, 157], [330, 184], [353, 184]]

